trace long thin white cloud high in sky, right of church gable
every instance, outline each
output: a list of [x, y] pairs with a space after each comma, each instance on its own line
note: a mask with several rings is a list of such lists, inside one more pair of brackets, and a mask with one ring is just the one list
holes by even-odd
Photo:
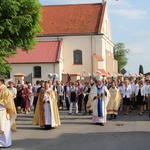
[[137, 9], [111, 9], [111, 13], [114, 13], [118, 16], [127, 17], [129, 19], [145, 19], [147, 18], [147, 12], [145, 10]]

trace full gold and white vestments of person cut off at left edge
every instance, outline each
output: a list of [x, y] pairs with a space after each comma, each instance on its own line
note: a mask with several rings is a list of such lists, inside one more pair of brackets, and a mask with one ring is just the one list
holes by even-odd
[[16, 131], [17, 117], [13, 95], [5, 86], [0, 86], [0, 147], [9, 147], [12, 144], [11, 131]]

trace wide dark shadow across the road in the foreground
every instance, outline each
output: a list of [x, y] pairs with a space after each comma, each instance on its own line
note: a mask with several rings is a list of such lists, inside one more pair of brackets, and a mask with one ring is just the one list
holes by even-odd
[[64, 133], [14, 140], [9, 150], [149, 150], [149, 139], [150, 132]]

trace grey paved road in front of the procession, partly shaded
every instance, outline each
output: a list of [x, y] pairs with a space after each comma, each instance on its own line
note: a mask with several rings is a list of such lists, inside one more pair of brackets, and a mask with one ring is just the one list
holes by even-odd
[[137, 110], [128, 116], [120, 112], [103, 127], [93, 124], [89, 115], [60, 111], [60, 116], [61, 126], [44, 130], [32, 125], [32, 112], [18, 114], [9, 150], [150, 150], [148, 111], [143, 116]]

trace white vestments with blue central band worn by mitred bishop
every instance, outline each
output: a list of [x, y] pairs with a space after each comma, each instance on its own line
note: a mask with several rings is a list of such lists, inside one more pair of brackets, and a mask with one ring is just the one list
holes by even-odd
[[[92, 107], [93, 107], [93, 122], [106, 123], [107, 120], [107, 104], [109, 102], [109, 91], [105, 85], [96, 86], [92, 91]], [[98, 99], [94, 97], [99, 96]]]

